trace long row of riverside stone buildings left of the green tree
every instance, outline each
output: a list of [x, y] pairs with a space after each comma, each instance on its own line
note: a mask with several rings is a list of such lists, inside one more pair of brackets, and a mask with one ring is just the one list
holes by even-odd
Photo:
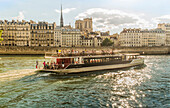
[[71, 26], [56, 26], [56, 23], [0, 21], [4, 39], [0, 46], [51, 46], [51, 47], [99, 47], [101, 38], [82, 38], [82, 32]]

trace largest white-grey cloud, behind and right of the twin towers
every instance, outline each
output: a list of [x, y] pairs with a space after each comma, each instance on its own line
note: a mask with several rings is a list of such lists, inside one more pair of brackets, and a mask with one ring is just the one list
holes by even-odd
[[75, 19], [93, 18], [95, 30], [120, 32], [123, 28], [147, 28], [153, 24], [142, 18], [144, 14], [128, 13], [121, 10], [103, 8], [88, 9]]

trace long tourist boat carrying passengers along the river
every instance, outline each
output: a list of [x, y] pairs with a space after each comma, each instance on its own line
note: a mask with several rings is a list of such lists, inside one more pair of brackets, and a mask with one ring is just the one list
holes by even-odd
[[144, 64], [144, 59], [139, 55], [140, 54], [61, 56], [57, 53], [46, 53], [44, 67], [37, 69], [36, 72], [54, 72], [63, 75], [127, 68]]

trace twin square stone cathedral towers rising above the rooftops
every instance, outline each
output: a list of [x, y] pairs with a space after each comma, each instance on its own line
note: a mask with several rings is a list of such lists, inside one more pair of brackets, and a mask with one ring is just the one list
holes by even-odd
[[92, 18], [85, 18], [83, 20], [76, 20], [75, 28], [82, 32], [93, 32], [93, 21]]

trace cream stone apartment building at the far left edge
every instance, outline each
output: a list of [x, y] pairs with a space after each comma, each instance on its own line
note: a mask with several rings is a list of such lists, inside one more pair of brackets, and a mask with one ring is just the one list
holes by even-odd
[[21, 21], [0, 21], [0, 30], [3, 30], [4, 39], [1, 46], [29, 46], [30, 24]]

